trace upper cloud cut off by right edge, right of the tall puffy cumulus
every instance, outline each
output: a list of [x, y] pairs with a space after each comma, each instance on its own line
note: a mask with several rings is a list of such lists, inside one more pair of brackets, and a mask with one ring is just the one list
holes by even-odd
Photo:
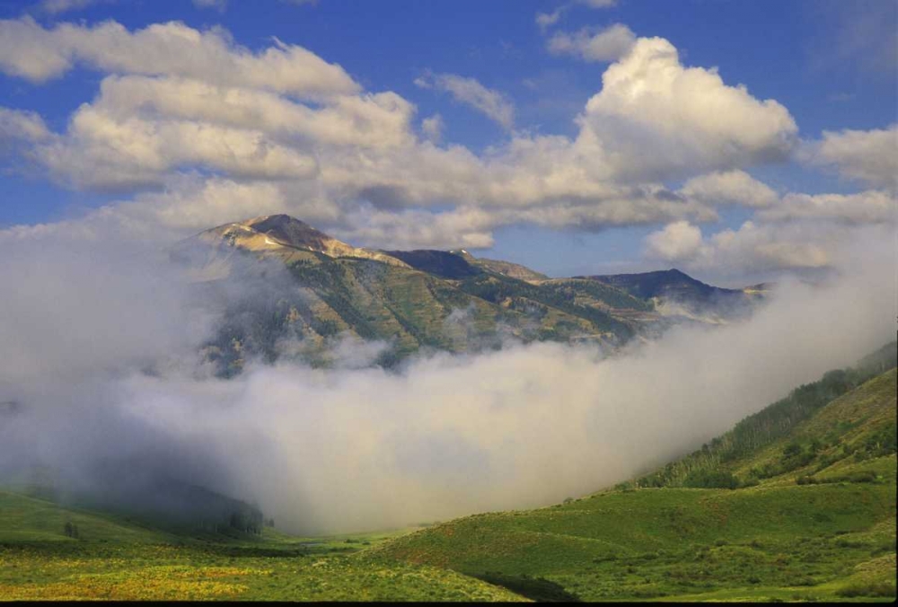
[[843, 177], [874, 187], [898, 189], [898, 124], [868, 131], [823, 131], [806, 146], [806, 163], [835, 168]]

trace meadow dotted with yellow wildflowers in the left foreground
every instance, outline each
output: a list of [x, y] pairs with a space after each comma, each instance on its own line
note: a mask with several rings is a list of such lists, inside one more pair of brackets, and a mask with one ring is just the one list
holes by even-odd
[[269, 529], [242, 539], [179, 535], [2, 491], [0, 601], [522, 600], [453, 571], [358, 551], [377, 541], [304, 540]]

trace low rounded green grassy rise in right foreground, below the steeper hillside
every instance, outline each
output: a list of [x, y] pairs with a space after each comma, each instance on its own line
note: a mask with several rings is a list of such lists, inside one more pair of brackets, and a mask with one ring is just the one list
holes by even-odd
[[[564, 506], [468, 517], [378, 551], [471, 576], [544, 577], [585, 600], [743, 586], [753, 596], [759, 588], [792, 586], [813, 594], [814, 586], [840, 580], [882, 550], [894, 557], [894, 527], [876, 527], [894, 519], [894, 488], [893, 480], [612, 491]], [[817, 591], [832, 598], [836, 588]]]

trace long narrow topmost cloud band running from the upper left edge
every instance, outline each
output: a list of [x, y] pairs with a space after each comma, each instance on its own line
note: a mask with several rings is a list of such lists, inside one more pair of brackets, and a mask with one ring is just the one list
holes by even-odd
[[28, 16], [0, 21], [4, 73], [40, 83], [77, 63], [111, 73], [180, 75], [302, 97], [359, 90], [342, 67], [279, 40], [254, 53], [235, 45], [226, 31], [198, 31], [181, 22], [131, 32], [111, 21], [93, 27], [61, 23], [53, 29]]

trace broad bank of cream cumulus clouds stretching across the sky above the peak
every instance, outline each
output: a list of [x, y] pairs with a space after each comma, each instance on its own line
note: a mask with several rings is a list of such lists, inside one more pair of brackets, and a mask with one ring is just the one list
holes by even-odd
[[[62, 132], [37, 114], [0, 110], [10, 155], [75, 189], [132, 193], [79, 220], [88, 232], [115, 222], [198, 230], [286, 212], [359, 245], [474, 249], [503, 225], [694, 226], [717, 220], [723, 205], [767, 209], [763, 221], [809, 220], [812, 211], [885, 221], [873, 195], [783, 204], [744, 169], [786, 158], [796, 132], [788, 111], [715, 69], [682, 65], [662, 39], [638, 39], [605, 70], [576, 136], [514, 131], [475, 154], [441, 143], [439, 114], [419, 120], [410, 101], [363, 92], [299, 47], [251, 52], [226, 31], [176, 22], [48, 29], [26, 17], [0, 31], [10, 34], [0, 43], [7, 73], [40, 80], [77, 63], [110, 72]], [[238, 79], [242, 70], [253, 75]], [[427, 73], [418, 85], [515, 125], [511, 101], [476, 80]], [[686, 181], [665, 185], [674, 179]]]

